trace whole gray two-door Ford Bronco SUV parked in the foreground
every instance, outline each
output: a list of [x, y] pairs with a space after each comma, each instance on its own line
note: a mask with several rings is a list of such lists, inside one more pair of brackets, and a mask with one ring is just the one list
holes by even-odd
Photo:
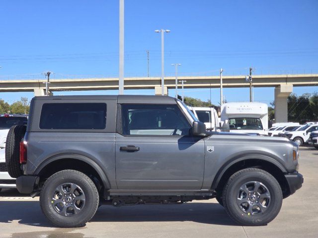
[[84, 226], [104, 204], [211, 198], [237, 223], [264, 225], [303, 183], [294, 142], [207, 132], [165, 96], [35, 97], [5, 156], [19, 192], [40, 195], [60, 227]]

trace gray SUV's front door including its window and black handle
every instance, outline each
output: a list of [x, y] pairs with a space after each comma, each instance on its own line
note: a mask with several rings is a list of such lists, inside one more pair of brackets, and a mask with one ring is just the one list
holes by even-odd
[[116, 133], [119, 189], [200, 189], [204, 141], [177, 105], [121, 105]]

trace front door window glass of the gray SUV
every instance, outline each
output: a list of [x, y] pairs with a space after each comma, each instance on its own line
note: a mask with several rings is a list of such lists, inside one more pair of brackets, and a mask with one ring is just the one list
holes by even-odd
[[177, 105], [131, 105], [122, 108], [124, 135], [189, 135], [191, 129]]

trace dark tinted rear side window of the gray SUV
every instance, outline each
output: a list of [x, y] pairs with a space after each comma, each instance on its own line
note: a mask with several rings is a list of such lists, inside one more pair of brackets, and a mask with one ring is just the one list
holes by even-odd
[[105, 103], [45, 103], [41, 129], [104, 129]]

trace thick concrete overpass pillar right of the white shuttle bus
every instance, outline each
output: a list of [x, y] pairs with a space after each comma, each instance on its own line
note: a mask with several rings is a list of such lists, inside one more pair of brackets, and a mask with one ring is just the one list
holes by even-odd
[[288, 122], [287, 97], [292, 92], [292, 84], [281, 84], [275, 87], [275, 122]]

